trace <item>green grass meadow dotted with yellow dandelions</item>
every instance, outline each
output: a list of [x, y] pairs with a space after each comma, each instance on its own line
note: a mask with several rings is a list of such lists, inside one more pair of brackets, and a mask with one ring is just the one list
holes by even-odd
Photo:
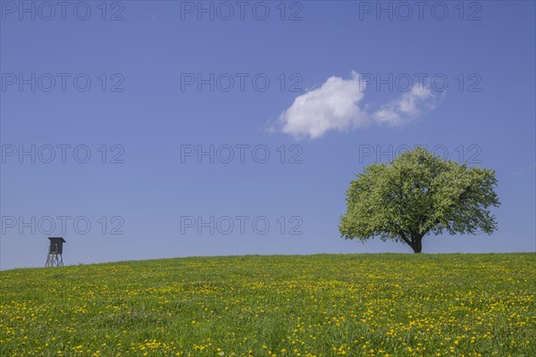
[[536, 356], [536, 254], [235, 256], [0, 272], [2, 356]]

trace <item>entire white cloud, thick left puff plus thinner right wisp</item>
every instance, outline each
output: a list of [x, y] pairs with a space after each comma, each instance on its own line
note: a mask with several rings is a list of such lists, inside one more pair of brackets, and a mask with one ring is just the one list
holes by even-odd
[[371, 122], [400, 126], [432, 111], [438, 103], [430, 87], [416, 84], [371, 114], [362, 104], [364, 89], [364, 81], [356, 71], [352, 71], [351, 79], [330, 77], [321, 87], [298, 95], [281, 113], [277, 129], [296, 138], [314, 139], [329, 130], [348, 131]]

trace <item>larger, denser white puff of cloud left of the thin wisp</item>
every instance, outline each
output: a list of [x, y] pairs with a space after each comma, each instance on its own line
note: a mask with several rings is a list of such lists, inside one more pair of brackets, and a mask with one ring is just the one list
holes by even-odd
[[330, 77], [321, 87], [299, 95], [289, 109], [281, 113], [281, 131], [294, 137], [322, 137], [328, 130], [363, 127], [368, 115], [359, 107], [364, 87], [359, 74], [351, 79]]

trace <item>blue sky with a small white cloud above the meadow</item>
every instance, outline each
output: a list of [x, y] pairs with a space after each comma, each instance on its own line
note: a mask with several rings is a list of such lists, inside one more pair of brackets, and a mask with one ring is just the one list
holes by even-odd
[[105, 4], [1, 2], [0, 269], [54, 236], [66, 264], [410, 253], [338, 222], [414, 145], [496, 170], [502, 203], [424, 252], [536, 250], [533, 2]]

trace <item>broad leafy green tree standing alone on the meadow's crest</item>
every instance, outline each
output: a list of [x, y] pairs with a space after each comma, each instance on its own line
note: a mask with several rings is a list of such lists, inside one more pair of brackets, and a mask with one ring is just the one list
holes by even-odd
[[498, 207], [495, 171], [447, 161], [423, 147], [357, 174], [347, 192], [340, 236], [406, 243], [415, 253], [429, 233], [491, 234]]

